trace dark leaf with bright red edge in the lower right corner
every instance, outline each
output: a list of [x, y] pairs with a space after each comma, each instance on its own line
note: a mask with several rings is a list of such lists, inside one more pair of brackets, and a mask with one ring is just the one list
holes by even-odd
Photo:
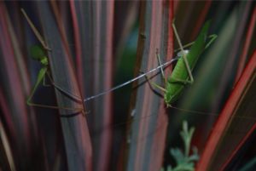
[[[223, 111], [219, 114], [218, 121], [212, 128], [212, 133], [207, 140], [207, 145], [197, 170], [218, 170], [236, 149], [236, 145], [246, 135], [255, 123], [255, 119], [235, 119], [236, 116], [255, 118], [255, 88], [256, 88], [256, 51], [243, 71], [240, 80], [230, 94]], [[239, 118], [239, 117], [238, 117]], [[232, 134], [240, 133], [240, 134]], [[222, 157], [219, 157], [222, 156]]]

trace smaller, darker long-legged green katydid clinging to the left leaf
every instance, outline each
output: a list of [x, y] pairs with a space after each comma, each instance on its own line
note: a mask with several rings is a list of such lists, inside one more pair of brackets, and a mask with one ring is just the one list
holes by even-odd
[[32, 21], [27, 16], [25, 10], [21, 9], [21, 12], [22, 12], [22, 14], [24, 14], [24, 16], [25, 16], [29, 26], [32, 28], [32, 31], [34, 32], [36, 37], [38, 37], [38, 41], [43, 46], [43, 47], [41, 47], [41, 46], [32, 46], [32, 49], [31, 49], [33, 60], [38, 60], [41, 63], [42, 68], [38, 72], [37, 81], [36, 81], [36, 83], [34, 84], [34, 86], [32, 88], [32, 93], [30, 94], [30, 96], [26, 100], [26, 104], [27, 105], [34, 105], [34, 106], [38, 106], [38, 107], [53, 108], [53, 109], [65, 109], [65, 110], [71, 110], [71, 111], [77, 111], [77, 112], [81, 111], [82, 113], [84, 113], [84, 110], [83, 109], [79, 109], [79, 108], [70, 108], [70, 107], [65, 107], [65, 106], [54, 106], [54, 105], [41, 105], [41, 104], [34, 104], [34, 103], [32, 103], [32, 97], [35, 94], [39, 84], [43, 82], [43, 85], [44, 85], [45, 76], [49, 77], [49, 81], [52, 83], [52, 85], [56, 89], [61, 91], [61, 93], [66, 94], [68, 97], [70, 97], [73, 100], [76, 100], [76, 101], [79, 101], [79, 102], [81, 102], [82, 100], [79, 97], [77, 97], [77, 96], [75, 96], [73, 94], [68, 93], [63, 88], [61, 88], [60, 86], [56, 85], [53, 82], [53, 80], [52, 80], [52, 78], [50, 77], [50, 74], [49, 74], [49, 60], [48, 60], [48, 57], [46, 55], [46, 50], [50, 50], [50, 48], [48, 48], [46, 43], [44, 43], [44, 38], [40, 35], [40, 33], [36, 29], [36, 27], [32, 24]]

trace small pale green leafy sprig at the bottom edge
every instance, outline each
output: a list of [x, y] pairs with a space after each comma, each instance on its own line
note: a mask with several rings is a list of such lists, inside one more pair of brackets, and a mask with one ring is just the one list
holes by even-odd
[[[177, 166], [172, 168], [169, 165], [166, 171], [194, 171], [195, 170], [195, 162], [199, 160], [199, 155], [196, 147], [192, 148], [192, 155], [189, 156], [190, 151], [190, 143], [192, 140], [192, 136], [195, 132], [195, 128], [189, 128], [187, 121], [183, 121], [183, 130], [180, 132], [180, 135], [183, 139], [184, 143], [184, 151], [178, 148], [172, 148], [170, 153], [174, 158]], [[161, 169], [164, 171], [164, 168]]]

